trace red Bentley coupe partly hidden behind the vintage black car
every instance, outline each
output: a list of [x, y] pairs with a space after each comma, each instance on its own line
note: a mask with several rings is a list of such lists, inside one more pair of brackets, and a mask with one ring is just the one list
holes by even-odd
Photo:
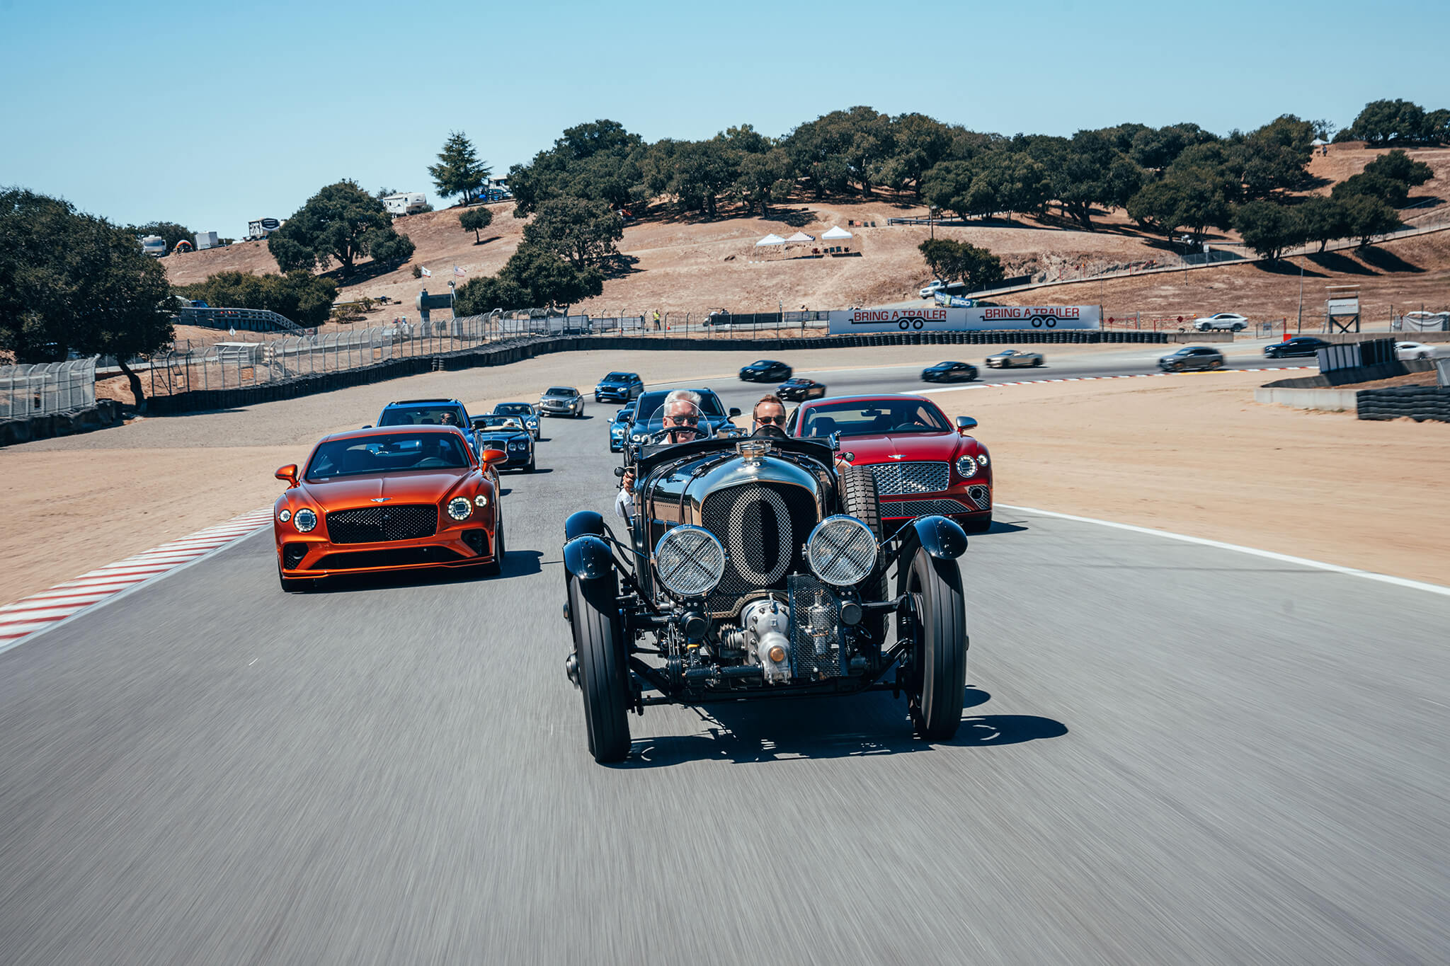
[[935, 513], [982, 533], [992, 526], [992, 465], [987, 448], [967, 434], [976, 424], [958, 416], [953, 426], [921, 395], [837, 395], [800, 404], [786, 433], [840, 433], [842, 458], [871, 468], [887, 532]]

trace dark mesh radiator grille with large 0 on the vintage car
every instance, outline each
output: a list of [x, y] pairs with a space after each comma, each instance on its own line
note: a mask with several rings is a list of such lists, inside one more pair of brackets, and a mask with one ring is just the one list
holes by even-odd
[[725, 545], [725, 576], [706, 602], [710, 616], [737, 613], [750, 591], [784, 589], [816, 523], [815, 497], [800, 487], [750, 482], [706, 497], [700, 524]]

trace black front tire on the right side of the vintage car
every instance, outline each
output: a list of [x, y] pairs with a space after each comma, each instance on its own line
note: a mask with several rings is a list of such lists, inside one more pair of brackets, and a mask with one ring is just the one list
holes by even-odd
[[912, 647], [912, 686], [908, 692], [916, 734], [947, 742], [961, 727], [967, 688], [967, 617], [961, 571], [956, 560], [938, 560], [918, 549], [906, 574], [916, 610]]

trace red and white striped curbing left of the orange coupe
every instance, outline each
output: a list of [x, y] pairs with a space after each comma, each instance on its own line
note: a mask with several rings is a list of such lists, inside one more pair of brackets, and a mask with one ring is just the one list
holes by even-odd
[[22, 601], [0, 607], [0, 650], [7, 650], [30, 634], [54, 627], [88, 607], [128, 591], [139, 584], [219, 550], [271, 523], [271, 508], [254, 510], [206, 530], [162, 543], [144, 553], [109, 563], [74, 581], [32, 594]]

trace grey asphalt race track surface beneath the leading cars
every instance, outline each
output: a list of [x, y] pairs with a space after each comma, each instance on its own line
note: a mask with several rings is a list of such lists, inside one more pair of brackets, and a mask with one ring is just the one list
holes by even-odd
[[1450, 597], [999, 507], [954, 742], [650, 708], [602, 768], [590, 416], [506, 474], [500, 578], [284, 595], [264, 532], [0, 655], [0, 962], [1450, 959]]

